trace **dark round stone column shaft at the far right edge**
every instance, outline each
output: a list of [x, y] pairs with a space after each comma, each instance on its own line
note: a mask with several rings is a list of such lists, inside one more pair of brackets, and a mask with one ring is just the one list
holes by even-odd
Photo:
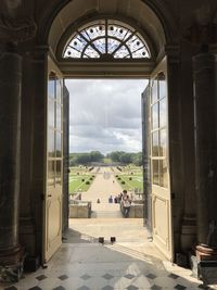
[[217, 222], [217, 56], [204, 52], [193, 58], [195, 177], [197, 242], [217, 247], [210, 236]]

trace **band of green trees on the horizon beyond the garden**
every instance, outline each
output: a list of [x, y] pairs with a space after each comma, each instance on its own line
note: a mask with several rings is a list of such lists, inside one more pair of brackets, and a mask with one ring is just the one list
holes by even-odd
[[118, 162], [123, 165], [135, 164], [137, 166], [142, 165], [142, 153], [127, 153], [123, 151], [114, 151], [106, 155], [103, 155], [99, 151], [91, 151], [90, 153], [71, 153], [69, 164], [71, 166], [88, 165], [91, 162], [104, 162], [104, 159], [111, 162]]

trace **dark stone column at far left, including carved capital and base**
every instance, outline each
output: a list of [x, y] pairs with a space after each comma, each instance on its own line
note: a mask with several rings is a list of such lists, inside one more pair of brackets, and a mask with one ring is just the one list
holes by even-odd
[[0, 16], [0, 281], [17, 281], [23, 270], [18, 243], [22, 58], [17, 43], [36, 35], [29, 17]]

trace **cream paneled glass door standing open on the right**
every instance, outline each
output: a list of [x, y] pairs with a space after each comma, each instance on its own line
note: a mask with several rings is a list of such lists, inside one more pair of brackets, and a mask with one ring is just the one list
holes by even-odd
[[173, 260], [166, 58], [154, 70], [149, 86], [153, 242]]

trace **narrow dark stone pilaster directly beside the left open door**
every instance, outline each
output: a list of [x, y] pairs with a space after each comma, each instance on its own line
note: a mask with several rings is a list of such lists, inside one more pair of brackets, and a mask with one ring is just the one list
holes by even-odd
[[[48, 86], [48, 51], [47, 46], [35, 47], [33, 51], [34, 71], [34, 126], [33, 126], [33, 173], [31, 203], [36, 228], [36, 252], [42, 253], [43, 239], [43, 201], [47, 176], [47, 86]], [[40, 157], [39, 157], [40, 156]]]

